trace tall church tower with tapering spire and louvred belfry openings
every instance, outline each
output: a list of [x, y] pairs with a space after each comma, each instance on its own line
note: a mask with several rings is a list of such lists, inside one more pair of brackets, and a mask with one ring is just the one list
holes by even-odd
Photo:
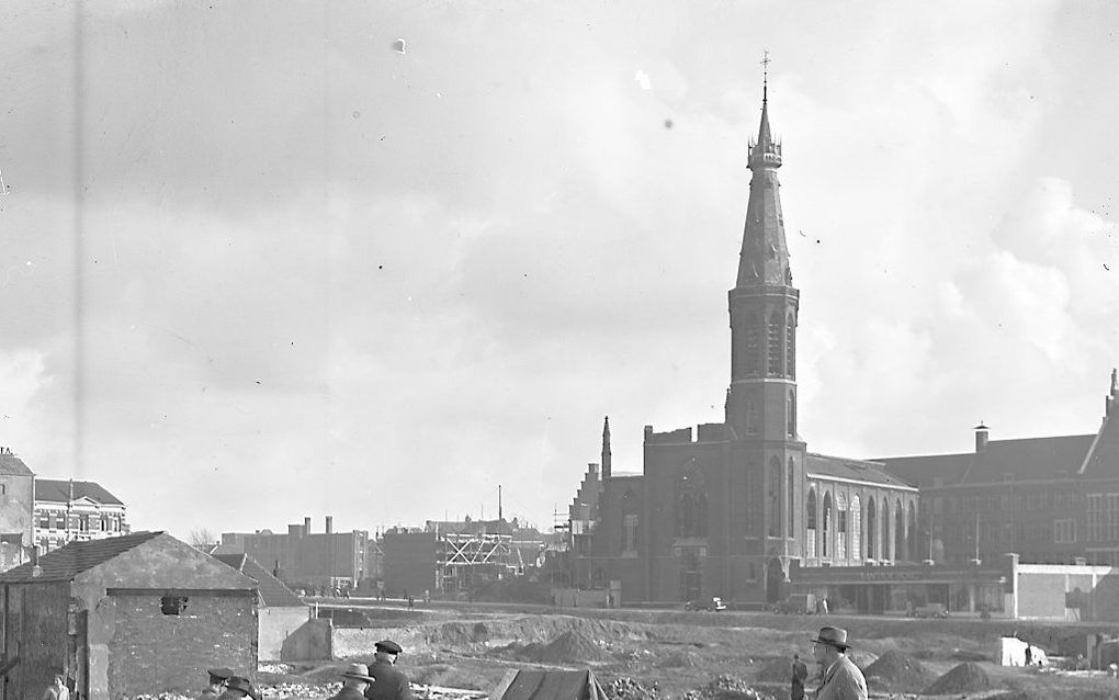
[[[731, 386], [726, 426], [731, 468], [742, 475], [735, 504], [746, 554], [768, 578], [800, 557], [805, 444], [797, 431], [797, 316], [781, 213], [781, 143], [769, 123], [763, 83], [758, 140], [750, 144], [750, 200], [731, 316]], [[783, 579], [783, 572], [781, 575]], [[770, 581], [773, 584], [773, 581]], [[769, 588], [769, 586], [767, 587]]]

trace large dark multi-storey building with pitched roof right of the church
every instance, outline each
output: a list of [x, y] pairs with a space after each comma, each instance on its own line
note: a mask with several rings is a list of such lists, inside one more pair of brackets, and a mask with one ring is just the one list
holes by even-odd
[[1094, 433], [991, 440], [974, 452], [876, 461], [921, 488], [922, 549], [938, 562], [1119, 564], [1119, 379]]

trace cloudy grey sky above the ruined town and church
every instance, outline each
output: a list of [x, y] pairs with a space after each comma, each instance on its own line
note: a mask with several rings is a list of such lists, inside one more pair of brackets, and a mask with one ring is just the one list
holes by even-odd
[[[0, 444], [185, 536], [551, 526], [721, 420], [763, 50], [809, 449], [1092, 432], [1119, 4], [0, 8]], [[396, 39], [405, 50], [394, 50]]]

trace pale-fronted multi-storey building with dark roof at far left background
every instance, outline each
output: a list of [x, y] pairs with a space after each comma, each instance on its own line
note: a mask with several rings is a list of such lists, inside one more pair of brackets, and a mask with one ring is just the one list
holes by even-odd
[[129, 534], [125, 505], [96, 482], [35, 479], [35, 544], [40, 552], [69, 542]]

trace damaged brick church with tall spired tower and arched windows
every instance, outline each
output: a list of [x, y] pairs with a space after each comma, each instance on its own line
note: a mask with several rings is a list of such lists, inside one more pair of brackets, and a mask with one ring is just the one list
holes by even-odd
[[[763, 88], [764, 90], [764, 88]], [[920, 560], [918, 489], [882, 464], [808, 451], [797, 426], [797, 324], [769, 123], [749, 149], [753, 172], [734, 288], [727, 293], [731, 382], [725, 420], [645, 428], [643, 473], [614, 475], [610, 426], [572, 506], [582, 586], [620, 581], [627, 601], [721, 596], [781, 599], [790, 566]], [[617, 585], [617, 584], [615, 584]]]

